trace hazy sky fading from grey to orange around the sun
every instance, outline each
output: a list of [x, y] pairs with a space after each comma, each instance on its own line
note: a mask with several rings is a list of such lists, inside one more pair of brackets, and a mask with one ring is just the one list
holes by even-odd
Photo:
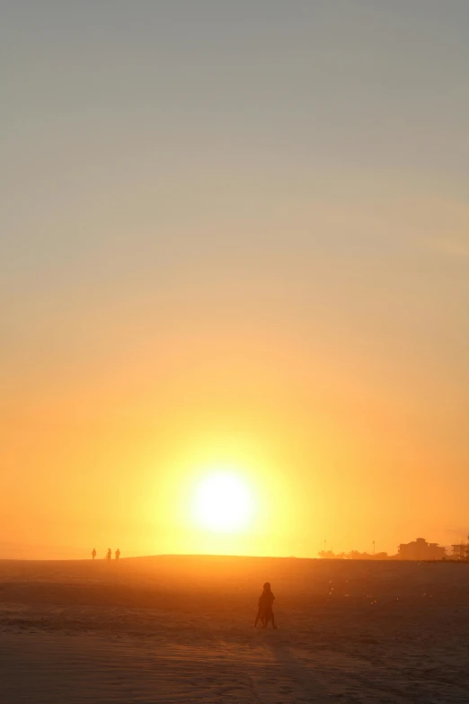
[[0, 557], [465, 537], [468, 67], [466, 0], [2, 4]]

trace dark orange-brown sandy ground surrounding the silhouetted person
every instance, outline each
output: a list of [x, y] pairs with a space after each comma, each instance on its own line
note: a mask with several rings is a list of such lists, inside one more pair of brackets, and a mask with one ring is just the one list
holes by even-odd
[[469, 700], [469, 565], [5, 561], [0, 600], [3, 704]]

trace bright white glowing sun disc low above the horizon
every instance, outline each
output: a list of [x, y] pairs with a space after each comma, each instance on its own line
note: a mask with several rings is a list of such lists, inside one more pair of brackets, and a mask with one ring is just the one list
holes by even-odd
[[243, 530], [252, 520], [252, 512], [252, 494], [235, 472], [208, 474], [196, 489], [195, 519], [208, 530]]

